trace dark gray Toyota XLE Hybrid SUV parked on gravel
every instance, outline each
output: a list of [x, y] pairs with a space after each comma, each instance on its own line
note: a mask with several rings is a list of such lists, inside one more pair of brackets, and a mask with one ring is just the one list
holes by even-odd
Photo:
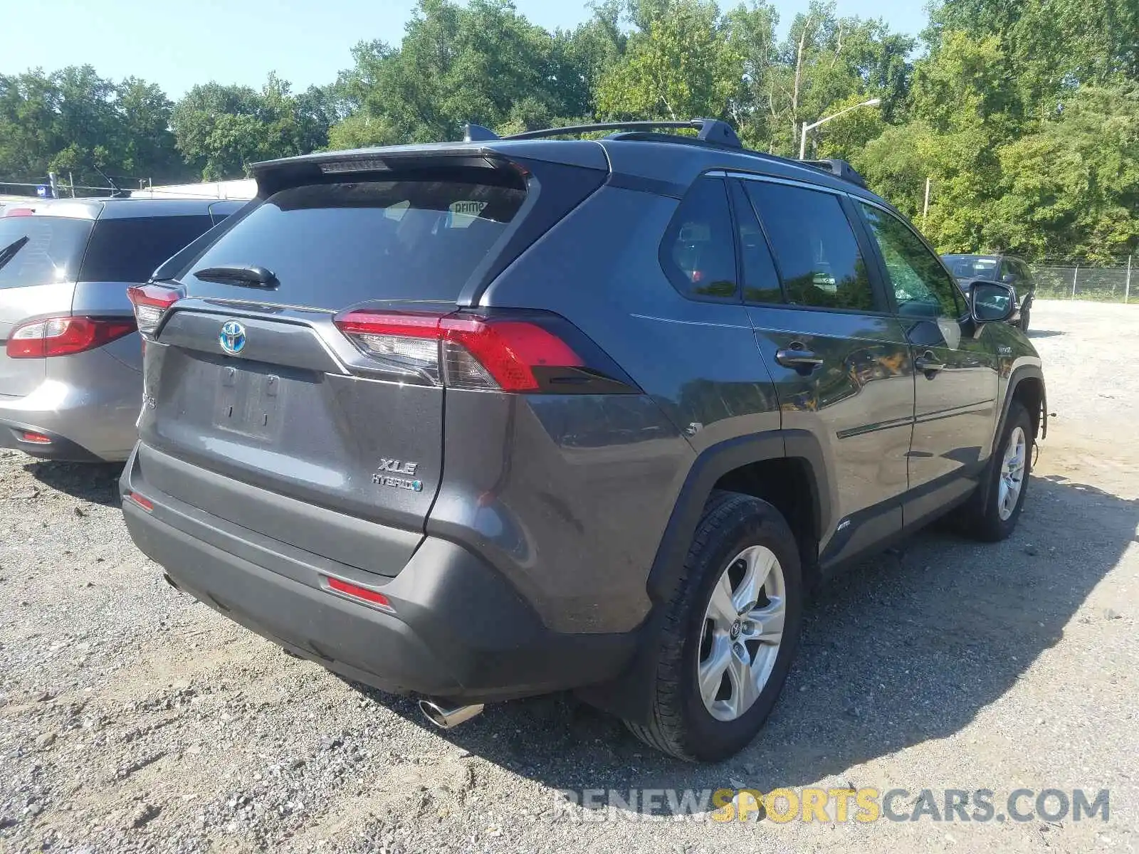
[[950, 510], [1009, 535], [1044, 384], [846, 164], [690, 125], [257, 165], [132, 291], [139, 548], [443, 726], [574, 689], [744, 747], [819, 582]]

